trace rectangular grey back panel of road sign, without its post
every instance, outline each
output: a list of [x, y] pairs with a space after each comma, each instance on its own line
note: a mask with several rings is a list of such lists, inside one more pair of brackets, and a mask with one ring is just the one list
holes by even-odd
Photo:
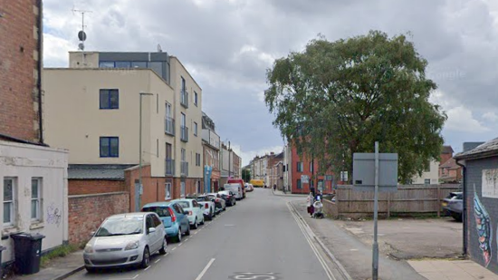
[[[354, 153], [353, 190], [374, 191], [375, 153]], [[397, 191], [397, 154], [378, 154], [378, 191]]]

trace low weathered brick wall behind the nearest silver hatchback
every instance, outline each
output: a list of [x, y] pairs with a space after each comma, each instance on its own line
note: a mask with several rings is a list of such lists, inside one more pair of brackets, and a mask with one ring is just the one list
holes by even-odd
[[69, 197], [69, 242], [81, 244], [90, 239], [102, 221], [111, 215], [129, 212], [129, 193]]

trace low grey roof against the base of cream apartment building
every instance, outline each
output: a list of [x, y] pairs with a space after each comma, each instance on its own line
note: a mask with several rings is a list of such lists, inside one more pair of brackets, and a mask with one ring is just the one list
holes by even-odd
[[135, 164], [70, 164], [68, 179], [124, 180], [124, 170]]

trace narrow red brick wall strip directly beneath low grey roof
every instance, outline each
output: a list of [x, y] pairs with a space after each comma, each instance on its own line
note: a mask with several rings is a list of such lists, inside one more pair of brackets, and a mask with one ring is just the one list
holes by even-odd
[[69, 195], [101, 194], [108, 192], [125, 191], [124, 181], [98, 179], [69, 179]]

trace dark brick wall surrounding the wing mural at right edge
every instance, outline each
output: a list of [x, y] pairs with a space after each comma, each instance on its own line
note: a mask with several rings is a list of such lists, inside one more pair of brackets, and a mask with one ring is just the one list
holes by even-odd
[[477, 233], [477, 228], [475, 224], [474, 217], [474, 185], [475, 192], [484, 208], [488, 212], [491, 218], [491, 233], [490, 237], [492, 240], [491, 250], [492, 258], [489, 266], [489, 270], [494, 273], [498, 273], [498, 262], [496, 262], [496, 256], [498, 255], [498, 244], [496, 243], [497, 236], [497, 223], [498, 218], [498, 198], [483, 198], [482, 196], [482, 176], [483, 169], [498, 169], [498, 157], [488, 158], [488, 159], [475, 159], [467, 160], [466, 162], [466, 175], [465, 175], [465, 193], [467, 200], [467, 211], [466, 211], [466, 225], [467, 225], [467, 254], [478, 264], [484, 266], [483, 252], [479, 248], [479, 236]]

